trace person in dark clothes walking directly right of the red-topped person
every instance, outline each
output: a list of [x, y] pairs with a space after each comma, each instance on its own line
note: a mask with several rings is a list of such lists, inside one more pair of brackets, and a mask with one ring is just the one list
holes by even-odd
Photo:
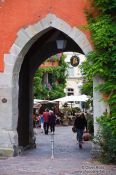
[[53, 111], [49, 111], [49, 126], [51, 133], [54, 134], [55, 132], [55, 124], [56, 124], [56, 115], [54, 114]]

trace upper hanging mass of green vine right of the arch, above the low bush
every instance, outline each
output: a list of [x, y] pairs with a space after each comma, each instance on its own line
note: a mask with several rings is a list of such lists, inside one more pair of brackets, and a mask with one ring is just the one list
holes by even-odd
[[93, 0], [94, 11], [88, 20], [88, 29], [94, 44], [94, 51], [88, 54], [87, 60], [82, 64], [84, 75], [82, 92], [92, 95], [92, 77], [99, 75], [105, 80], [104, 84], [96, 90], [106, 94], [109, 99], [111, 115], [116, 115], [116, 1]]

